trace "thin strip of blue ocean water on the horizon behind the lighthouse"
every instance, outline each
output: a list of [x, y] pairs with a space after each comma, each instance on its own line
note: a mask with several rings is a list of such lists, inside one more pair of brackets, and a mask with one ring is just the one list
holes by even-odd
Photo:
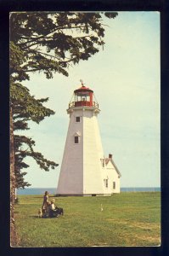
[[[17, 189], [17, 195], [44, 195], [48, 191], [49, 195], [56, 194], [56, 188], [27, 188]], [[121, 188], [121, 192], [160, 192], [159, 187], [149, 188]]]

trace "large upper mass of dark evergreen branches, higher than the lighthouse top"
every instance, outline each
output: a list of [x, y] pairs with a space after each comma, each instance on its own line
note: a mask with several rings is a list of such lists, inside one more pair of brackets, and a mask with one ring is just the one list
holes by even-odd
[[[117, 13], [104, 13], [115, 18]], [[99, 13], [14, 13], [10, 17], [11, 74], [14, 80], [43, 72], [68, 76], [68, 67], [87, 61], [104, 46]], [[14, 58], [14, 61], [13, 61]]]

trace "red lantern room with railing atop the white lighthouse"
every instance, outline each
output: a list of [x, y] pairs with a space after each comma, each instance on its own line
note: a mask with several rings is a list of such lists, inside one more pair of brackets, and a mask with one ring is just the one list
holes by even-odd
[[99, 108], [99, 104], [96, 100], [93, 102], [93, 90], [87, 88], [83, 83], [82, 87], [74, 90], [74, 95], [70, 101], [69, 108], [75, 107], [89, 107]]

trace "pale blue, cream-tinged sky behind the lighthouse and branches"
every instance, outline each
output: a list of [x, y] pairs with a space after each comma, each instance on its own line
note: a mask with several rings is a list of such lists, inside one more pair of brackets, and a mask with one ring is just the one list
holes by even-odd
[[59, 163], [50, 172], [27, 158], [25, 176], [31, 187], [57, 187], [65, 138], [69, 125], [66, 113], [80, 79], [99, 102], [99, 128], [104, 154], [113, 154], [121, 172], [121, 187], [156, 187], [160, 169], [160, 13], [119, 12], [105, 19], [104, 50], [88, 61], [70, 67], [69, 77], [54, 74], [46, 79], [31, 75], [25, 81], [32, 95], [49, 97], [46, 106], [56, 113], [40, 125], [30, 123], [26, 135], [36, 141], [35, 149]]

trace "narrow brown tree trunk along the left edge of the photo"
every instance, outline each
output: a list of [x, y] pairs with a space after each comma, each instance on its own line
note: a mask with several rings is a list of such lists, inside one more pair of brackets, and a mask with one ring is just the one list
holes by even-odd
[[15, 198], [15, 175], [14, 175], [14, 126], [13, 114], [10, 107], [10, 245], [17, 246], [18, 237], [14, 224], [14, 198]]

